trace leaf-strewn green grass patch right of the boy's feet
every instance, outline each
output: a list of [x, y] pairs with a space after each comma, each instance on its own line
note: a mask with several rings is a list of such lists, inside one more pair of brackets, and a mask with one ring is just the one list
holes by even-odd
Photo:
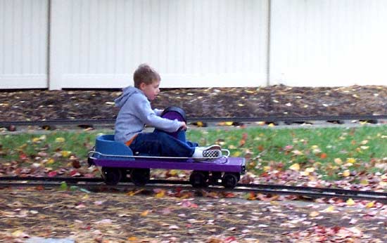
[[[245, 138], [243, 139], [243, 134]], [[315, 169], [324, 179], [337, 179], [345, 170], [385, 173], [387, 126], [326, 129], [217, 129], [191, 131], [189, 138], [221, 143], [233, 156], [248, 158], [248, 170]], [[241, 140], [245, 140], [241, 145]], [[383, 159], [384, 158], [384, 159]]]

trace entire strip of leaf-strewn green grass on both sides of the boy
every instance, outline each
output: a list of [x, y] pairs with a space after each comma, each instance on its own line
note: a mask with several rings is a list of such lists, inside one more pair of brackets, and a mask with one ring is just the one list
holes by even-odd
[[[112, 131], [109, 131], [112, 132]], [[58, 131], [46, 135], [18, 134], [0, 137], [0, 162], [32, 164], [44, 157], [56, 168], [71, 155], [86, 160], [100, 133]], [[345, 170], [385, 173], [387, 126], [326, 129], [193, 129], [187, 138], [200, 145], [219, 143], [231, 156], [246, 157], [248, 171], [284, 171], [297, 164], [300, 171], [314, 168], [324, 178], [335, 179]], [[376, 166], [375, 166], [376, 165]]]

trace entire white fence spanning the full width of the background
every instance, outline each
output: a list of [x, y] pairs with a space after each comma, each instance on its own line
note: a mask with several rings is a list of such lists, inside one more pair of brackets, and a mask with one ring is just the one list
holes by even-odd
[[0, 0], [0, 88], [387, 85], [383, 0]]

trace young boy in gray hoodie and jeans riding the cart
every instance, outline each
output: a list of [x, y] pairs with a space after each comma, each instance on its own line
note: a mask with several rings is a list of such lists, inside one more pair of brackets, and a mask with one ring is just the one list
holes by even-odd
[[[146, 64], [141, 64], [134, 72], [134, 87], [124, 88], [122, 95], [115, 99], [120, 107], [115, 121], [115, 140], [129, 146], [134, 155], [161, 157], [218, 157], [222, 154], [219, 145], [196, 147], [194, 143], [184, 143], [168, 133], [186, 130], [184, 121], [160, 117], [163, 110], [151, 109], [150, 101], [160, 93], [160, 75]], [[144, 126], [153, 126], [155, 131], [143, 133]], [[164, 132], [166, 131], [166, 132]]]

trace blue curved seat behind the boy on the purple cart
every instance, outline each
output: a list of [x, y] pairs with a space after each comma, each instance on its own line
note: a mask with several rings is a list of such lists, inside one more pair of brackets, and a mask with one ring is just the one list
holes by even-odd
[[[100, 152], [103, 155], [123, 155], [132, 156], [132, 150], [125, 145], [114, 140], [114, 135], [101, 135], [96, 138], [96, 152]], [[109, 159], [122, 159], [120, 157], [109, 157]], [[127, 160], [133, 158], [125, 158]]]

